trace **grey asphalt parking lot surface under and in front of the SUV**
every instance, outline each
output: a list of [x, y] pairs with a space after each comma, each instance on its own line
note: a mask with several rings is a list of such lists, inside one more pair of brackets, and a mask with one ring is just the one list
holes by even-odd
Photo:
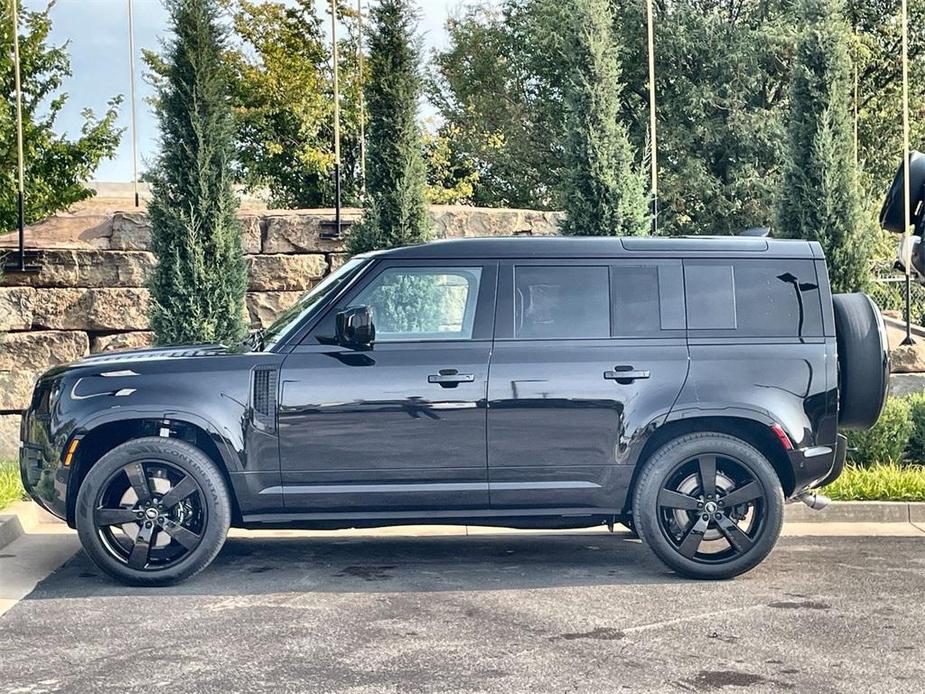
[[234, 537], [131, 589], [78, 553], [0, 617], [0, 691], [925, 691], [925, 536], [785, 537], [734, 581], [626, 534]]

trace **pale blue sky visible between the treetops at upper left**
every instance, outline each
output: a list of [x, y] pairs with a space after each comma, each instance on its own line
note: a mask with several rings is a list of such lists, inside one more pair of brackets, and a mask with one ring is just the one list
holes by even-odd
[[[22, 0], [30, 10], [41, 10], [48, 0]], [[319, 7], [326, 5], [318, 0]], [[363, 0], [364, 8], [369, 0]], [[418, 0], [420, 31], [425, 50], [446, 45], [445, 23], [459, 11], [465, 0]], [[59, 132], [76, 135], [83, 122], [81, 111], [91, 108], [97, 114], [106, 109], [110, 98], [123, 94], [125, 101], [119, 112], [120, 127], [129, 125], [129, 42], [128, 0], [57, 0], [51, 9], [53, 31], [51, 40], [58, 45], [69, 43], [73, 76], [63, 90], [70, 98], [62, 110], [56, 128]], [[138, 112], [139, 170], [153, 155], [157, 146], [157, 125], [144, 99], [151, 88], [141, 79], [144, 66], [141, 50], [157, 49], [159, 37], [167, 24], [167, 15], [160, 0], [134, 0], [135, 70]], [[95, 180], [130, 181], [132, 179], [132, 148], [126, 130], [113, 159], [103, 161]]]

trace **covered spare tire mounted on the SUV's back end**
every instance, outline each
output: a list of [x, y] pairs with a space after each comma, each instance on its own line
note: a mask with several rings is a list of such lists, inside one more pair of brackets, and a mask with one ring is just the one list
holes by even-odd
[[880, 417], [890, 378], [889, 347], [883, 317], [866, 294], [836, 294], [838, 342], [838, 424], [869, 429]]

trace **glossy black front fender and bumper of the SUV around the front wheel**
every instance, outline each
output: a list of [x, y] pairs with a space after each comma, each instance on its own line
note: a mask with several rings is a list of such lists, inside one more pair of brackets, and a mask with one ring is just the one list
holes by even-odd
[[[278, 485], [275, 435], [255, 431], [250, 410], [255, 362], [280, 360], [264, 356], [152, 360], [115, 368], [78, 362], [70, 369], [49, 372], [37, 384], [32, 406], [24, 415], [21, 469], [27, 490], [49, 511], [67, 518], [73, 506], [69, 497], [76, 494], [85, 465], [125, 440], [157, 435], [162, 428], [158, 423], [165, 422], [168, 429], [194, 427], [204, 432], [236, 496], [247, 492], [249, 485]], [[125, 427], [119, 427], [121, 423]], [[90, 445], [104, 429], [105, 445], [100, 441]], [[72, 470], [65, 460], [75, 439], [82, 443]], [[249, 455], [249, 450], [259, 454]], [[239, 484], [246, 489], [238, 490]]]

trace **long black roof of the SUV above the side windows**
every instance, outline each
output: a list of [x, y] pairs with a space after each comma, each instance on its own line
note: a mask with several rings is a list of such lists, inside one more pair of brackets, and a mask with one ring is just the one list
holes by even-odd
[[508, 236], [446, 239], [403, 246], [375, 255], [391, 258], [822, 258], [818, 243], [745, 236]]

